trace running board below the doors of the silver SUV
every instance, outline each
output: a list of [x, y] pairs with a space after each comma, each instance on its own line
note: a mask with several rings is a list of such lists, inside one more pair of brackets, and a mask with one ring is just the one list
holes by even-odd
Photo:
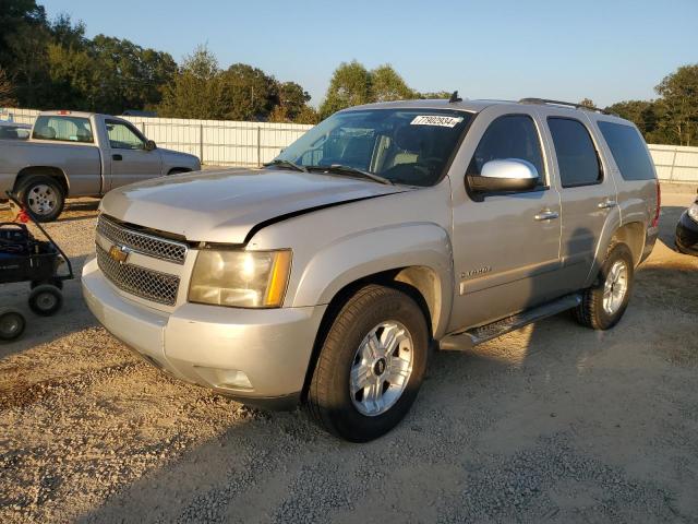
[[528, 309], [520, 313], [506, 317], [491, 324], [479, 325], [470, 330], [461, 331], [446, 335], [440, 341], [438, 347], [444, 350], [462, 352], [470, 349], [472, 346], [491, 341], [497, 336], [502, 336], [510, 331], [524, 327], [527, 324], [552, 317], [571, 308], [576, 308], [581, 303], [581, 295], [565, 295], [552, 302], [543, 303], [532, 309]]

